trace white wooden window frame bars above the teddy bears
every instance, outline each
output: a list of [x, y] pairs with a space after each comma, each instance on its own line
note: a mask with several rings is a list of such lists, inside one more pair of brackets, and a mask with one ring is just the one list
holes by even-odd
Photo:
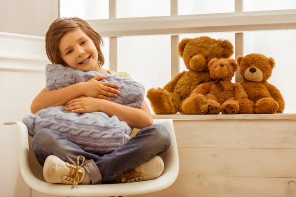
[[[180, 72], [178, 42], [180, 33], [235, 33], [235, 58], [244, 55], [243, 32], [295, 30], [296, 9], [243, 11], [243, 0], [235, 0], [235, 12], [178, 15], [178, 0], [171, 0], [171, 15], [116, 18], [116, 0], [109, 0], [109, 19], [87, 20], [103, 37], [110, 37], [110, 69], [117, 71], [117, 37], [171, 35], [171, 78]], [[242, 80], [239, 70], [235, 82]]]

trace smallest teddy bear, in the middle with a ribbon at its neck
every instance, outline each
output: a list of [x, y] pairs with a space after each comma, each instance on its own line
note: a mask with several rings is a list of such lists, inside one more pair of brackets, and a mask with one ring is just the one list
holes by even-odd
[[197, 86], [182, 105], [184, 114], [237, 114], [248, 113], [254, 102], [239, 83], [231, 79], [237, 70], [234, 59], [214, 58], [209, 62], [213, 81]]

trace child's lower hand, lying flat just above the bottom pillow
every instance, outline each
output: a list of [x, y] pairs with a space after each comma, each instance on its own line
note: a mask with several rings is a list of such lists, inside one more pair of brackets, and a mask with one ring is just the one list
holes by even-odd
[[103, 102], [108, 101], [93, 97], [79, 97], [77, 99], [70, 100], [64, 109], [65, 111], [71, 111], [74, 113], [91, 113], [101, 111], [100, 107]]

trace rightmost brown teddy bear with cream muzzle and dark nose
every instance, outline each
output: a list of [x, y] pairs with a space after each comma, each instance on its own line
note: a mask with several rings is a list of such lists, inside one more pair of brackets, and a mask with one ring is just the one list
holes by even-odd
[[252, 53], [245, 57], [239, 56], [237, 62], [243, 77], [240, 84], [247, 92], [248, 98], [255, 102], [254, 112], [257, 114], [283, 113], [285, 101], [281, 92], [267, 82], [275, 66], [274, 59]]

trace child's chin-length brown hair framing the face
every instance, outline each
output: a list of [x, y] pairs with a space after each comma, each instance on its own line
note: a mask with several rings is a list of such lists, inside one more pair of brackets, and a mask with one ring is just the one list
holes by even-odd
[[60, 39], [69, 31], [78, 28], [80, 28], [94, 42], [98, 51], [99, 66], [103, 66], [105, 59], [100, 48], [101, 45], [103, 46], [103, 38], [99, 33], [95, 32], [86, 21], [78, 17], [58, 18], [49, 26], [49, 29], [45, 34], [45, 50], [49, 61], [52, 64], [62, 64], [64, 66], [68, 66], [62, 60], [59, 53]]

